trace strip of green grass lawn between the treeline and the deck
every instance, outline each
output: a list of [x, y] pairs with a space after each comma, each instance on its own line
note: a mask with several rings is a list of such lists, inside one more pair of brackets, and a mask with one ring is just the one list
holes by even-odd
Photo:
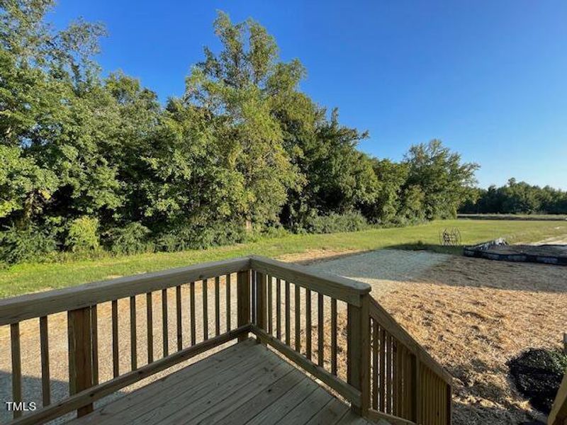
[[425, 225], [363, 232], [288, 235], [259, 242], [175, 253], [140, 254], [66, 263], [19, 264], [0, 271], [0, 297], [21, 295], [52, 288], [129, 276], [165, 268], [188, 266], [203, 261], [259, 254], [281, 256], [312, 249], [367, 251], [384, 248], [434, 249], [459, 253], [459, 249], [440, 249], [439, 231], [458, 227], [463, 244], [505, 237], [509, 242], [536, 242], [567, 234], [567, 222], [527, 222], [503, 220], [443, 220]]

